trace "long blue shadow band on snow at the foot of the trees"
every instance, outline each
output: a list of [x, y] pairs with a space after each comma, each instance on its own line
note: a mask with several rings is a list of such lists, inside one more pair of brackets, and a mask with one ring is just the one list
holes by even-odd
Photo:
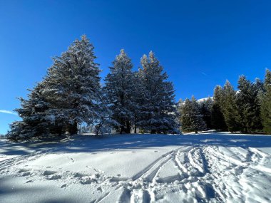
[[271, 136], [204, 133], [198, 135], [76, 135], [58, 140], [36, 142], [0, 142], [0, 154], [29, 155], [44, 152], [97, 152], [107, 150], [143, 149], [181, 145], [219, 145], [225, 147], [271, 147]]

